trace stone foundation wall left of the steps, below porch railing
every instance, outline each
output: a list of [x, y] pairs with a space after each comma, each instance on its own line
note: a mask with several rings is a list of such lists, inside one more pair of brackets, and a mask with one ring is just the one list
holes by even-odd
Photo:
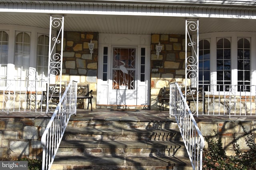
[[3, 118], [0, 120], [0, 159], [41, 158], [41, 137], [50, 118]]

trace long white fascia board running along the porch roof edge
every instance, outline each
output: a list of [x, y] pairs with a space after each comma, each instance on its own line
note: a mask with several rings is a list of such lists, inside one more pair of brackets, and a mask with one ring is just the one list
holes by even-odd
[[0, 12], [256, 19], [256, 10], [0, 3]]

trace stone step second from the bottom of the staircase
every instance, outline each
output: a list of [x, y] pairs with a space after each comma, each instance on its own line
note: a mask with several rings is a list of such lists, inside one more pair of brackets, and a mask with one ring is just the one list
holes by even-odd
[[62, 141], [57, 155], [70, 156], [187, 156], [183, 142], [177, 141]]

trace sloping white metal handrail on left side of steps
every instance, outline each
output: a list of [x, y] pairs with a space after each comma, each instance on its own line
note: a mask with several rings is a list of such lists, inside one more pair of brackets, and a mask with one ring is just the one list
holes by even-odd
[[42, 170], [50, 170], [52, 166], [70, 116], [76, 114], [76, 97], [77, 82], [71, 81], [42, 135]]

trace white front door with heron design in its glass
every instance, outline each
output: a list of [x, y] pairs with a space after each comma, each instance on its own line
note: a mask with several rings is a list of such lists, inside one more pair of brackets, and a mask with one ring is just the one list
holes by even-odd
[[136, 63], [136, 48], [112, 48], [110, 105], [136, 105]]

